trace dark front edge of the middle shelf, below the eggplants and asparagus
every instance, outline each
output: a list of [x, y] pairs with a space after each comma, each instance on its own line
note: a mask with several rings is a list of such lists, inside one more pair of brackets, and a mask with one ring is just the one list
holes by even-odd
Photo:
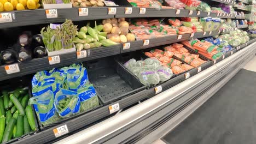
[[[218, 31], [196, 32], [194, 33], [193, 38], [210, 37], [217, 34], [218, 34]], [[118, 55], [119, 53], [146, 49], [149, 47], [155, 47], [155, 46], [160, 46], [164, 44], [175, 43], [178, 41], [188, 40], [192, 38], [191, 36], [193, 36], [193, 34], [192, 35], [191, 34], [170, 35], [166, 37], [149, 39], [149, 40], [132, 41], [131, 43], [129, 43], [130, 44], [129, 49], [124, 49], [123, 48], [124, 44], [118, 44], [118, 45], [113, 45], [108, 47], [97, 47], [94, 49], [84, 50], [86, 56], [84, 58], [79, 58], [79, 59], [77, 58], [77, 55], [78, 55], [77, 52], [64, 53], [64, 54], [57, 55], [59, 56], [60, 61], [56, 64], [50, 64], [48, 57], [34, 58], [29, 62], [10, 64], [9, 67], [11, 67], [11, 65], [14, 65], [14, 66], [16, 65], [15, 67], [19, 68], [19, 71], [16, 71], [16, 73], [11, 73], [11, 74], [7, 74], [6, 69], [9, 69], [7, 65], [1, 65], [0, 81], [11, 79], [13, 77], [36, 73], [37, 71], [62, 67], [62, 66], [77, 63], [77, 62], [89, 61], [91, 59]]]

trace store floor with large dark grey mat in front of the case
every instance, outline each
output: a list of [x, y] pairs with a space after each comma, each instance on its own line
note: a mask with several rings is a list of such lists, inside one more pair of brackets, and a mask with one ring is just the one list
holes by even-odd
[[256, 143], [256, 57], [178, 127], [154, 143]]

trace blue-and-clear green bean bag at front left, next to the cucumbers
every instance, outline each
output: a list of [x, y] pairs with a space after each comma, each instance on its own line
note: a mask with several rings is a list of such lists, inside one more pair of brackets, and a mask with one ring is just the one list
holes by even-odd
[[57, 122], [61, 119], [54, 107], [54, 94], [49, 90], [37, 97], [30, 98], [29, 104], [34, 106], [37, 117], [44, 126]]

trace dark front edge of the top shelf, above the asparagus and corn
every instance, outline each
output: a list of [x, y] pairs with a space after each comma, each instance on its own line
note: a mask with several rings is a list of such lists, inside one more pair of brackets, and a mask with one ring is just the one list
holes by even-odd
[[[114, 8], [114, 7], [113, 7]], [[131, 9], [131, 14], [125, 14], [126, 9]], [[108, 7], [87, 7], [88, 15], [79, 16], [79, 8], [64, 8], [55, 9], [56, 17], [47, 18], [45, 9], [22, 10], [22, 11], [4, 11], [2, 13], [10, 13], [11, 20], [3, 22], [0, 28], [18, 27], [38, 25], [44, 23], [57, 23], [64, 22], [66, 19], [72, 21], [85, 21], [85, 20], [100, 20], [113, 17], [220, 17], [220, 18], [234, 18], [235, 15], [231, 14], [217, 14], [206, 13], [196, 10], [184, 10], [184, 9], [154, 9], [154, 8], [132, 8], [132, 7], [116, 7], [116, 13], [109, 15]], [[141, 9], [144, 9], [144, 14], [140, 14]]]

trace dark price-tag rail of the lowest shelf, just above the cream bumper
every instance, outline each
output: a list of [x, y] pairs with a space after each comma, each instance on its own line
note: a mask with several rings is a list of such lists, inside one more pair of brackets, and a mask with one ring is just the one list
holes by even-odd
[[[243, 47], [246, 47], [247, 45], [252, 44], [254, 41], [256, 41], [256, 39], [252, 39], [248, 43], [240, 45], [240, 46], [236, 47], [236, 49], [225, 53], [225, 55], [222, 58], [219, 58], [217, 61], [213, 61], [212, 64], [205, 63], [205, 64], [201, 65], [201, 70], [205, 70], [206, 68], [210, 67], [211, 65], [216, 64], [216, 63], [222, 61], [223, 59], [226, 59], [227, 57], [233, 55], [237, 51], [240, 51]], [[189, 71], [190, 77], [193, 75], [196, 75], [197, 73], [200, 73], [200, 71], [198, 71], [198, 69], [190, 70]], [[142, 91], [132, 94], [129, 97], [125, 97], [123, 99], [115, 101], [114, 103], [112, 102], [112, 104], [102, 106], [94, 111], [84, 113], [82, 115], [79, 115], [79, 117], [75, 117], [73, 119], [62, 122], [61, 124], [54, 125], [54, 127], [45, 128], [43, 131], [40, 131], [40, 132], [33, 134], [31, 136], [28, 136], [28, 137], [24, 137], [24, 139], [20, 139], [19, 141], [16, 141], [14, 143], [19, 143], [19, 144], [22, 144], [22, 143], [48, 143], [50, 141], [56, 141], [60, 138], [60, 137], [55, 137], [55, 135], [54, 135], [54, 129], [56, 129], [56, 128], [66, 125], [68, 128], [68, 133], [72, 134], [72, 133], [74, 133], [74, 131], [77, 131], [81, 128], [85, 128], [86, 126], [90, 125], [91, 123], [94, 123], [104, 117], [110, 116], [111, 114], [109, 113], [109, 106], [111, 106], [111, 105], [119, 104], [120, 110], [122, 110], [125, 107], [128, 107], [132, 104], [137, 103], [138, 101], [153, 97], [154, 95], [156, 95], [158, 93], [158, 92], [156, 92], [156, 89], [159, 87], [161, 87], [161, 91], [165, 91], [166, 89], [168, 89], [174, 85], [177, 85], [178, 83], [184, 81], [185, 79], [186, 79], [186, 76], [184, 74], [181, 78], [179, 78], [178, 81], [173, 81], [171, 79], [164, 83], [160, 83], [159, 85], [157, 85], [153, 88], [143, 89]]]

